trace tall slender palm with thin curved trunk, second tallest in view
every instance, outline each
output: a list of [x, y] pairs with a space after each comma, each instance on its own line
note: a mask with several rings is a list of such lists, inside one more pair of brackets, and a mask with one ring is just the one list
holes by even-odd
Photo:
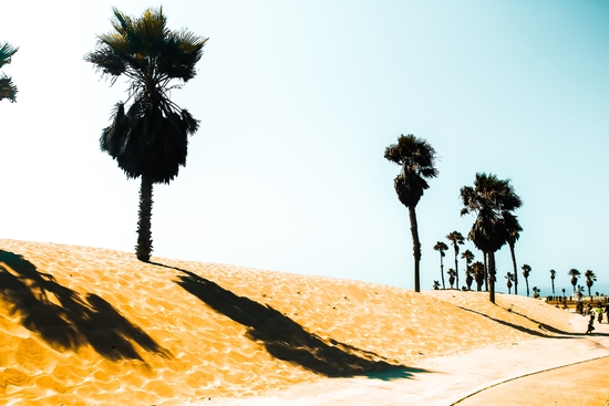
[[421, 292], [421, 241], [416, 223], [415, 207], [430, 185], [425, 179], [435, 178], [438, 174], [435, 168], [435, 149], [422, 138], [414, 135], [401, 135], [398, 144], [385, 148], [384, 157], [402, 167], [393, 180], [395, 192], [402, 205], [409, 208], [414, 256], [414, 291]]

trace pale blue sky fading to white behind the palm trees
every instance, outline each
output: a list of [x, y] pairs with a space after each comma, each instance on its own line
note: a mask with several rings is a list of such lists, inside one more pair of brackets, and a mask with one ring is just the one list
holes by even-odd
[[[436, 241], [474, 221], [460, 189], [491, 173], [524, 201], [519, 293], [526, 263], [543, 294], [550, 269], [569, 292], [571, 268], [609, 294], [602, 0], [8, 2], [0, 42], [20, 49], [1, 71], [19, 93], [0, 102], [0, 238], [134, 251], [140, 180], [99, 146], [126, 82], [110, 86], [83, 55], [112, 7], [158, 6], [171, 29], [209, 40], [172, 93], [200, 128], [178, 177], [155, 186], [154, 256], [412, 289], [400, 168], [383, 153], [414, 134], [440, 170], [416, 206], [422, 289], [440, 280]], [[507, 291], [508, 247], [496, 258]]]

